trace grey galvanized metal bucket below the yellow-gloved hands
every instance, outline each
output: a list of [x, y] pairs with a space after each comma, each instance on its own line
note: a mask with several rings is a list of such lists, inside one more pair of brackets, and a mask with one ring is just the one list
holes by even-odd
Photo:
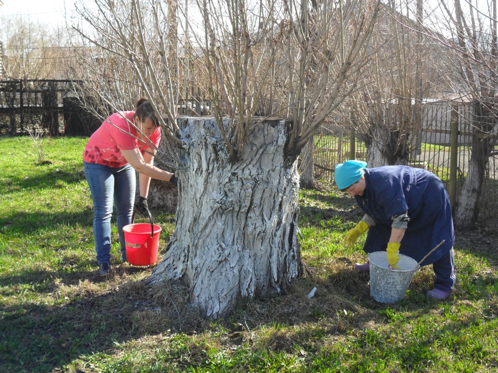
[[387, 253], [376, 251], [369, 254], [370, 295], [377, 302], [396, 303], [403, 299], [415, 272], [420, 267], [416, 260], [399, 254], [400, 270], [390, 270]]

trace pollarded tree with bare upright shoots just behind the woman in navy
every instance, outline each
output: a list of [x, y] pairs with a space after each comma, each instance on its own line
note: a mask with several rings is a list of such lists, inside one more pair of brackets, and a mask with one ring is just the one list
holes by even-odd
[[441, 48], [417, 32], [425, 29], [422, 6], [420, 0], [389, 0], [375, 24], [369, 74], [352, 101], [370, 167], [408, 164], [423, 125], [423, 102], [436, 97], [445, 82]]

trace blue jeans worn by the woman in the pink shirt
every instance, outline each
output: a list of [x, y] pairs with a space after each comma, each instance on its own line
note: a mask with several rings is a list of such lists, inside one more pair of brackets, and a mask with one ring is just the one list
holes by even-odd
[[97, 262], [111, 262], [111, 216], [113, 199], [116, 206], [121, 255], [126, 260], [123, 227], [131, 224], [135, 200], [135, 170], [128, 164], [114, 168], [97, 163], [83, 162], [94, 204], [93, 231]]

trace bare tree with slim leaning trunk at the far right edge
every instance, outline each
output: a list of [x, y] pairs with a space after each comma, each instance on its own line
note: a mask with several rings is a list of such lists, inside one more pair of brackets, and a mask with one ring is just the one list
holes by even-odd
[[457, 227], [469, 228], [477, 220], [489, 159], [497, 154], [492, 136], [498, 125], [497, 1], [441, 1], [433, 13], [432, 28], [439, 32], [427, 34], [454, 55], [445, 67], [448, 81], [473, 102], [472, 153], [455, 215]]

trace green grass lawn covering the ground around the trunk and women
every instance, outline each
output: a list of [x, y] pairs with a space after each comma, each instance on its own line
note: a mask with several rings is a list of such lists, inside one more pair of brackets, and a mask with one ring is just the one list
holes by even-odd
[[[201, 319], [180, 285], [146, 287], [150, 268], [97, 276], [92, 203], [81, 156], [86, 139], [47, 139], [35, 164], [27, 138], [0, 151], [0, 372], [496, 372], [498, 252], [458, 234], [457, 286], [429, 301], [430, 268], [397, 304], [370, 297], [362, 239], [342, 240], [362, 214], [327, 185], [300, 191], [305, 275], [288, 294]], [[174, 218], [153, 211], [160, 247]], [[160, 256], [164, 254], [161, 249]], [[315, 296], [307, 294], [317, 287]]]

